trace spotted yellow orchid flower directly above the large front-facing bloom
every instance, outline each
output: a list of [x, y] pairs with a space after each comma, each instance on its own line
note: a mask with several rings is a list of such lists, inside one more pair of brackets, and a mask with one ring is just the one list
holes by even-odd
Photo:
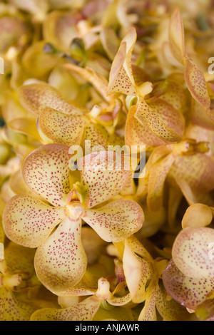
[[48, 83], [21, 86], [18, 96], [24, 108], [37, 117], [37, 129], [45, 144], [84, 146], [85, 140], [91, 140], [92, 146], [103, 145], [107, 149], [108, 145], [123, 143], [123, 138], [106, 130], [111, 114], [117, 118], [121, 109], [119, 101], [112, 106], [111, 113], [105, 110], [102, 113], [98, 106], [90, 111], [64, 100], [61, 93]]

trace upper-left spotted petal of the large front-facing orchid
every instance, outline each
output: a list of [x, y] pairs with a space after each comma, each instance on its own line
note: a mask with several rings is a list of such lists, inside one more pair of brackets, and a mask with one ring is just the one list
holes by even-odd
[[26, 184], [55, 206], [64, 206], [70, 192], [68, 150], [63, 144], [41, 145], [22, 165]]

